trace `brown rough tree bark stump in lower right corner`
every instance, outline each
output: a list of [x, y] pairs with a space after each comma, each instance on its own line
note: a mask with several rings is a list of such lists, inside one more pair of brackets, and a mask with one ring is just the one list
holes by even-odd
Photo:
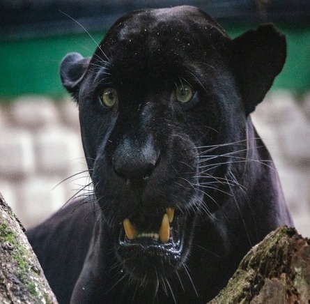
[[294, 228], [272, 231], [242, 259], [209, 304], [310, 303], [310, 240]]

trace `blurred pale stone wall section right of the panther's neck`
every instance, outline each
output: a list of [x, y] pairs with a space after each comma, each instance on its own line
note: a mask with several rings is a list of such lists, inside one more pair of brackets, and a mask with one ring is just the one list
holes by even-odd
[[252, 119], [277, 166], [295, 226], [310, 236], [310, 94], [272, 93]]

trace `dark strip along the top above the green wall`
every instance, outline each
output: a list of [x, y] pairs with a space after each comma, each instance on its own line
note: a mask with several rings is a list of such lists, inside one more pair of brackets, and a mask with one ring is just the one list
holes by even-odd
[[88, 31], [102, 31], [132, 10], [182, 4], [198, 6], [224, 23], [251, 25], [271, 21], [310, 24], [309, 0], [1, 0], [0, 38], [82, 32], [80, 26], [70, 22], [61, 12], [82, 23]]

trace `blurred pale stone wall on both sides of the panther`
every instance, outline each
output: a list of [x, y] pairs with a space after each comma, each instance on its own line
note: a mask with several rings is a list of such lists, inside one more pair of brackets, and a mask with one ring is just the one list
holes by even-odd
[[[68, 99], [0, 102], [0, 191], [26, 227], [89, 183], [77, 116]], [[295, 225], [310, 236], [310, 95], [272, 93], [252, 117], [276, 162]]]

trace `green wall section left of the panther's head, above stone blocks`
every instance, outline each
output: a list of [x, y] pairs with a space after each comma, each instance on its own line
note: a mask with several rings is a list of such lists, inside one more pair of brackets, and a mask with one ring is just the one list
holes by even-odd
[[[93, 34], [96, 41], [103, 33]], [[61, 96], [59, 65], [68, 52], [91, 56], [95, 42], [86, 35], [0, 42], [0, 96], [48, 94]]]

